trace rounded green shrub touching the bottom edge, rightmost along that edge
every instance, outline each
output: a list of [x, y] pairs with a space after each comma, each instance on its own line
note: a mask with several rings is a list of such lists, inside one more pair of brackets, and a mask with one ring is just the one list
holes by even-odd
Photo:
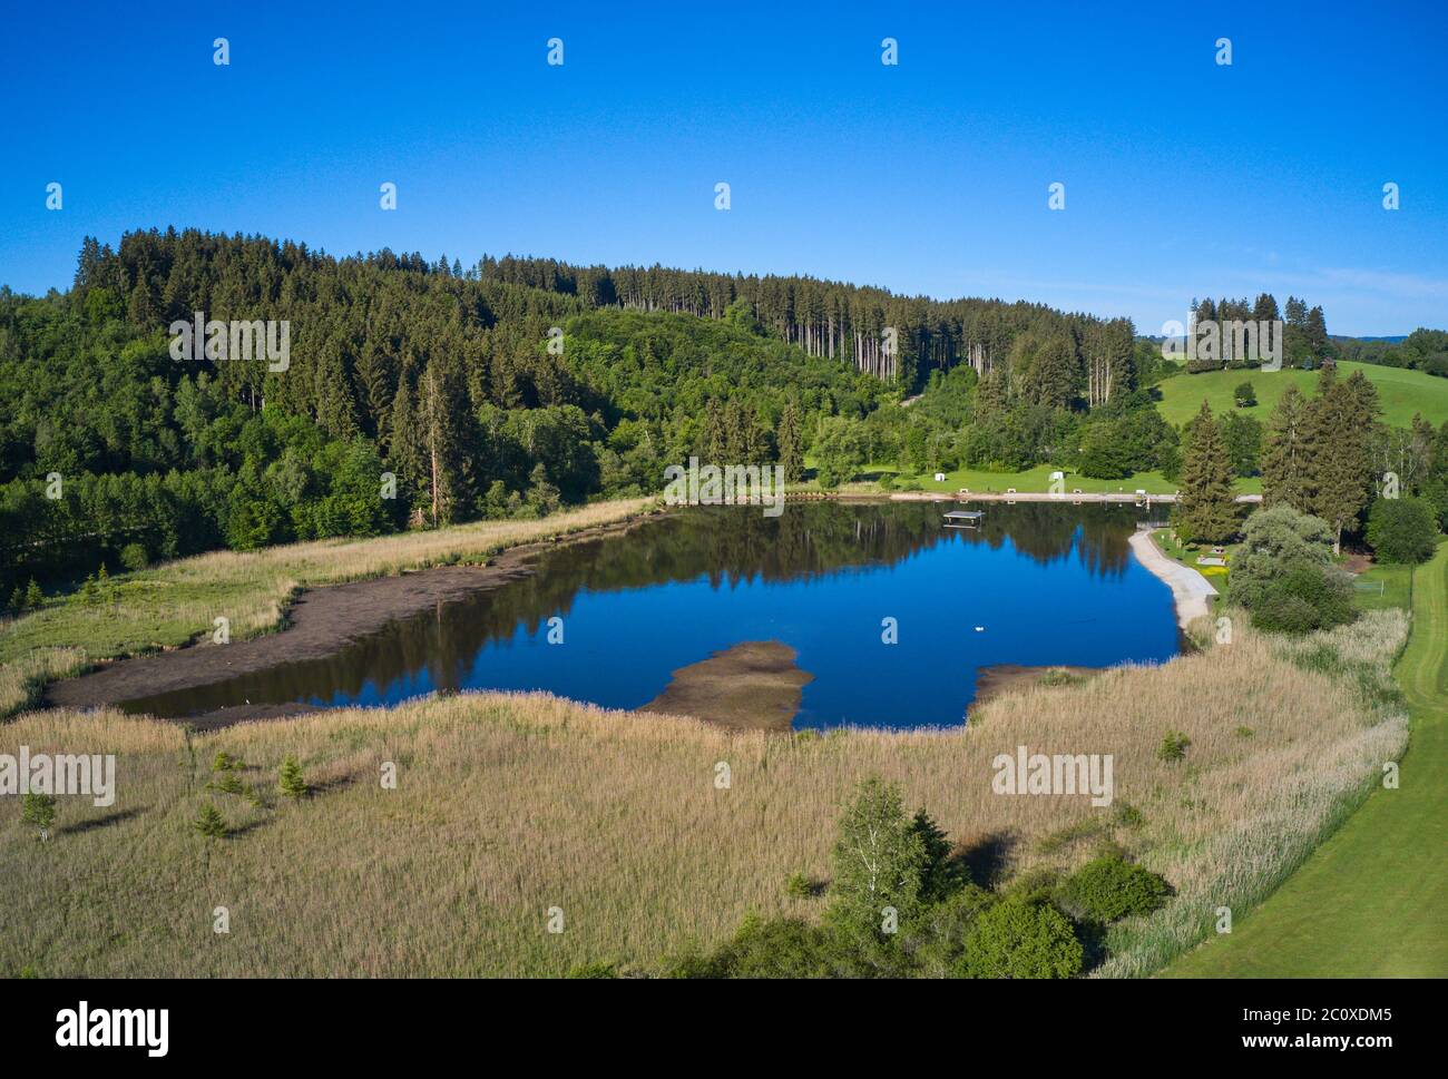
[[964, 978], [1072, 978], [1085, 950], [1070, 920], [1045, 902], [1005, 899], [966, 934], [956, 973]]

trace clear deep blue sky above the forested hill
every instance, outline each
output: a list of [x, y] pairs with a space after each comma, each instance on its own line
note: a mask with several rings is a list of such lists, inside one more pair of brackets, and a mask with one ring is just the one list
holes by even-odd
[[1261, 290], [1334, 333], [1448, 326], [1442, 0], [311, 7], [12, 6], [0, 282], [67, 287], [87, 233], [177, 224], [807, 272], [1141, 332]]

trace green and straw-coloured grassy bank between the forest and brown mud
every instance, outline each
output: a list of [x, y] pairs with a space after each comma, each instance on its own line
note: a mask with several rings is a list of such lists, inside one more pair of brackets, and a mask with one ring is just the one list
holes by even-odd
[[530, 521], [478, 521], [366, 540], [219, 550], [111, 578], [87, 601], [74, 594], [0, 624], [0, 718], [33, 702], [36, 687], [114, 656], [178, 647], [211, 633], [219, 616], [233, 640], [268, 633], [303, 588], [476, 562], [505, 547], [627, 520], [652, 500], [599, 503]]

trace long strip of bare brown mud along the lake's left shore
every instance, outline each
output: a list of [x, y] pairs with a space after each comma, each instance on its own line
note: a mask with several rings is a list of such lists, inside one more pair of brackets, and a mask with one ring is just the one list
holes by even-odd
[[[156, 656], [109, 662], [91, 673], [52, 684], [42, 700], [52, 708], [100, 708], [226, 682], [281, 663], [326, 659], [381, 631], [391, 621], [531, 576], [536, 572], [533, 561], [544, 550], [627, 532], [634, 524], [637, 521], [624, 521], [579, 532], [552, 543], [511, 547], [487, 565], [436, 566], [397, 576], [311, 588], [301, 592], [288, 608], [285, 629], [278, 633], [230, 645], [214, 645], [207, 637], [204, 643]], [[185, 721], [197, 727], [224, 727], [243, 720], [281, 718], [304, 711], [311, 711], [311, 707], [233, 705], [187, 717]]]

